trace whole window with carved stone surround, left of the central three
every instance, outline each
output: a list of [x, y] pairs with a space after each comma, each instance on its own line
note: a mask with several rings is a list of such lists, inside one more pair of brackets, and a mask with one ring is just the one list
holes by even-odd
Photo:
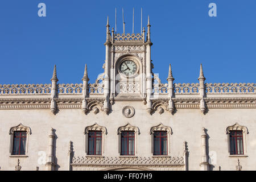
[[95, 123], [85, 127], [85, 154], [102, 155], [104, 154], [104, 137], [107, 133], [106, 127]]

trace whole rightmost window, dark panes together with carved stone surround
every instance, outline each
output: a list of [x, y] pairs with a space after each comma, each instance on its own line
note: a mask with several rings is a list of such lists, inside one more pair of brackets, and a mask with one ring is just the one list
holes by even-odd
[[249, 134], [247, 127], [238, 123], [226, 128], [228, 135], [228, 151], [230, 156], [246, 156], [246, 134]]

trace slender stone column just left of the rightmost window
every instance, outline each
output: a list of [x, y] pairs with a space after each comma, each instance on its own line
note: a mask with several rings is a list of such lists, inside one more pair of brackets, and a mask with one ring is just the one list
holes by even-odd
[[205, 133], [205, 128], [202, 129], [201, 134], [201, 163], [200, 163], [201, 171], [208, 171], [209, 163], [207, 157], [207, 134]]

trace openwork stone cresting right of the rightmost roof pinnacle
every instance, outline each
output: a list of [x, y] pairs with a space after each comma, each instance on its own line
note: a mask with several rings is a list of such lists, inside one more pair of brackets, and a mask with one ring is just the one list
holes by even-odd
[[255, 83], [206, 83], [207, 94], [255, 94]]

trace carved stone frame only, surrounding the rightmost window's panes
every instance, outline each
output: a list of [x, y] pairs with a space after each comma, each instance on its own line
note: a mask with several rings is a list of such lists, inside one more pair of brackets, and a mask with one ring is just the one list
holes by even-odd
[[[230, 154], [230, 152], [231, 152], [230, 151], [230, 132], [231, 131], [242, 131], [243, 154]], [[238, 123], [235, 123], [234, 125], [228, 126], [226, 128], [226, 135], [227, 135], [227, 140], [228, 140], [228, 142], [227, 142], [228, 143], [228, 154], [230, 157], [232, 157], [232, 156], [247, 156], [246, 155], [246, 153], [247, 153], [247, 151], [246, 151], [246, 135], [247, 134], [249, 134], [247, 127], [241, 126]]]

